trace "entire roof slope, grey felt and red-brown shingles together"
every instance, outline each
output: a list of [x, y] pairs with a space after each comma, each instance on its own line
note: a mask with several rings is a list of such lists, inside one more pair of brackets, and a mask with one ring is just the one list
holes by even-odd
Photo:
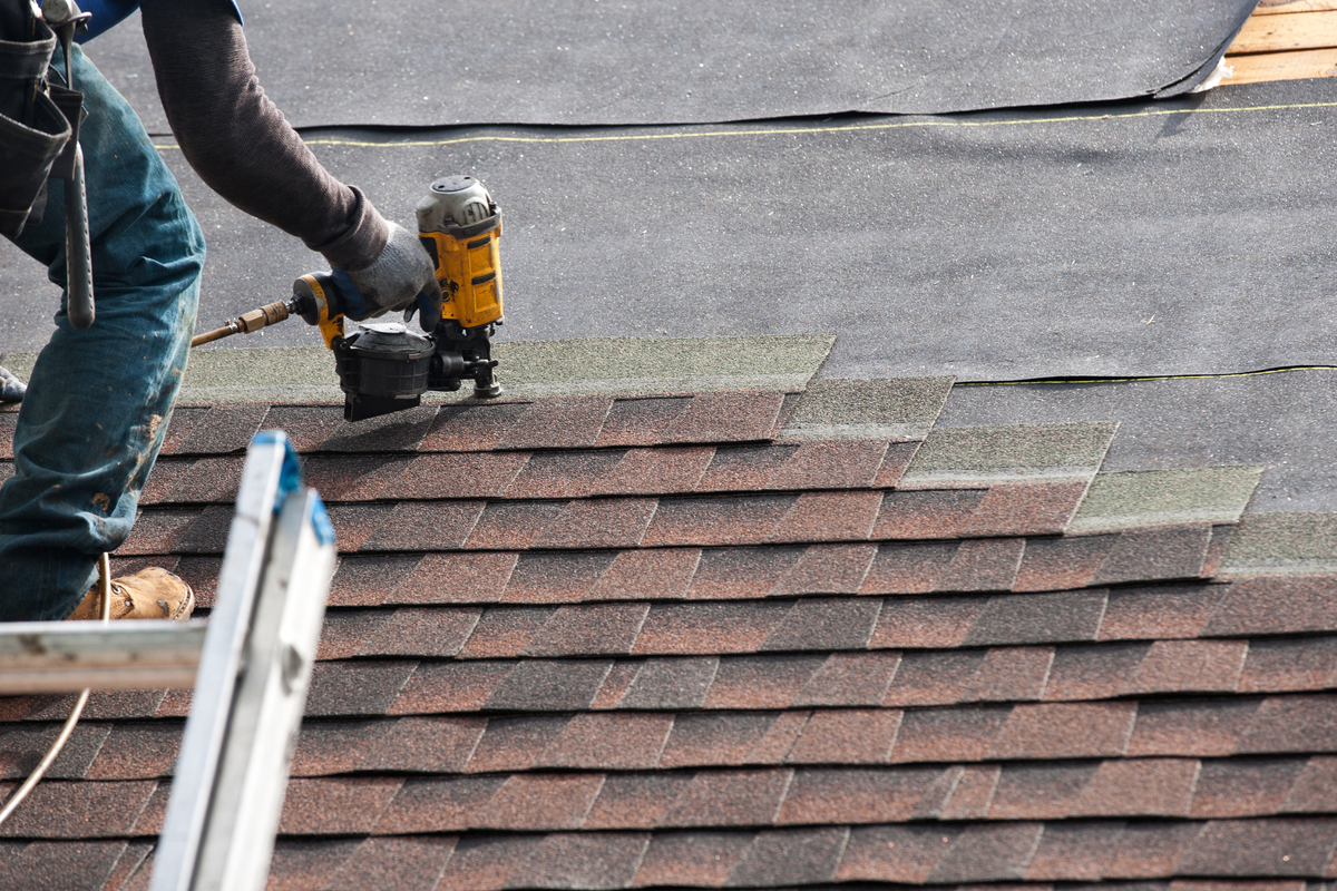
[[[358, 425], [298, 322], [191, 359], [115, 568], [207, 614], [267, 427], [341, 552], [271, 888], [1330, 891], [1337, 1], [270, 5], [337, 176], [488, 184], [508, 315], [501, 401]], [[283, 297], [318, 258], [91, 55], [201, 327]], [[146, 888], [189, 704], [95, 693], [0, 891]], [[0, 699], [0, 795], [67, 711]]]

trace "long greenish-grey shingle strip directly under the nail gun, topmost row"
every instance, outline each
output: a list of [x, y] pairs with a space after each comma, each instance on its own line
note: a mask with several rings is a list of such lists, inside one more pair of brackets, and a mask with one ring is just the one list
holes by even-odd
[[[285, 325], [302, 326], [287, 321]], [[245, 337], [245, 335], [237, 335]], [[731, 338], [592, 338], [496, 343], [497, 378], [505, 395], [709, 393], [714, 390], [802, 390], [836, 338], [821, 334]], [[7, 359], [27, 378], [33, 354]], [[947, 386], [951, 386], [948, 381]], [[424, 399], [468, 398], [429, 393]], [[191, 354], [182, 399], [341, 401], [334, 358], [324, 346], [201, 349]], [[943, 389], [937, 407], [947, 398]], [[935, 414], [937, 409], [935, 409]]]

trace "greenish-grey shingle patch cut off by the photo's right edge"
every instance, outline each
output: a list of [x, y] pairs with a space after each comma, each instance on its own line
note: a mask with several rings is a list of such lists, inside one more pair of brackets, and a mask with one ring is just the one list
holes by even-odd
[[1221, 574], [1337, 572], [1337, 514], [1251, 513], [1230, 537]]

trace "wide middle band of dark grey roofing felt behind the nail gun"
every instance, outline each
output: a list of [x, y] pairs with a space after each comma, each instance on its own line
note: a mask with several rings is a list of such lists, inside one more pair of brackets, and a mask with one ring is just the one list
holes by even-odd
[[[505, 339], [820, 331], [833, 377], [1207, 374], [1333, 361], [1332, 102], [1328, 79], [951, 118], [308, 136], [405, 223], [444, 172], [492, 190]], [[210, 239], [202, 323], [320, 266], [164, 156]], [[35, 349], [52, 289], [4, 262], [23, 294], [7, 347]]]

